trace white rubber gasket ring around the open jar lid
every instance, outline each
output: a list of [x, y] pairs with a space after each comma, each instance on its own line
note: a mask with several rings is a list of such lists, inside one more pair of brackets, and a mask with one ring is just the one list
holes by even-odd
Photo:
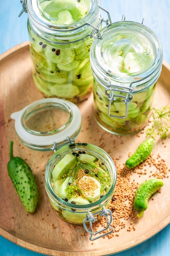
[[[32, 106], [40, 105], [41, 103], [58, 103], [61, 106], [67, 106], [71, 110], [72, 120], [66, 126], [66, 128], [56, 134], [43, 136], [43, 135], [35, 135], [28, 132], [22, 125], [22, 115], [26, 110], [31, 108]], [[20, 137], [22, 141], [26, 144], [32, 144], [36, 146], [52, 146], [54, 142], [61, 143], [65, 141], [67, 137], [72, 138], [72, 135], [75, 135], [76, 131], [80, 130], [82, 124], [82, 115], [79, 108], [72, 102], [66, 101], [64, 99], [57, 99], [57, 98], [47, 98], [35, 101], [22, 110], [18, 112], [14, 112], [11, 114], [11, 118], [15, 119], [15, 131]]]

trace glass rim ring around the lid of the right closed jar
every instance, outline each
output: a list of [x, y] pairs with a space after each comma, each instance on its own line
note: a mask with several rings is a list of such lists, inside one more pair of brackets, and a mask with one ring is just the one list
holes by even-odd
[[[150, 40], [150, 43], [152, 44], [152, 47], [155, 47], [155, 56], [154, 61], [152, 62], [152, 65], [144, 70], [143, 72], [137, 72], [132, 73], [129, 75], [124, 74], [121, 72], [120, 74], [117, 74], [113, 70], [108, 68], [107, 63], [104, 63], [104, 60], [102, 58], [102, 50], [101, 47], [103, 43], [106, 41], [107, 36], [110, 35], [113, 37], [116, 34], [119, 34], [121, 32], [126, 35], [127, 31], [131, 30], [132, 35], [135, 34], [138, 30], [140, 30], [140, 33], [147, 36], [147, 38]], [[163, 61], [163, 52], [161, 47], [161, 42], [157, 35], [146, 25], [134, 22], [134, 21], [119, 21], [114, 22], [109, 27], [104, 27], [101, 31], [102, 34], [102, 40], [94, 39], [93, 43], [91, 45], [91, 51], [90, 51], [90, 61], [91, 61], [91, 67], [92, 71], [97, 74], [99, 78], [103, 81], [105, 80], [108, 82], [108, 77], [112, 81], [118, 82], [118, 83], [134, 83], [134, 81], [142, 81], [144, 79], [150, 79], [151, 77], [154, 77], [157, 73], [159, 73]], [[120, 34], [121, 34], [120, 33]], [[137, 82], [138, 82], [137, 81]], [[140, 82], [139, 82], [140, 83]]]

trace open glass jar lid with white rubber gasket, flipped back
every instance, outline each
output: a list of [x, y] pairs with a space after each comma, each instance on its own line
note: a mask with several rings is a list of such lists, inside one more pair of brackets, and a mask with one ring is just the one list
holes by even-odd
[[41, 99], [11, 114], [22, 143], [41, 151], [53, 150], [53, 143], [75, 139], [82, 126], [79, 108], [64, 99]]

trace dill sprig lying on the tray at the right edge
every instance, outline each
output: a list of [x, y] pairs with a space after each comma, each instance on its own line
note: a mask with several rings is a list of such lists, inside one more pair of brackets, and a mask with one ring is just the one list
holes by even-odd
[[165, 106], [160, 109], [153, 108], [153, 121], [151, 128], [146, 130], [146, 137], [166, 139], [170, 135], [170, 107]]

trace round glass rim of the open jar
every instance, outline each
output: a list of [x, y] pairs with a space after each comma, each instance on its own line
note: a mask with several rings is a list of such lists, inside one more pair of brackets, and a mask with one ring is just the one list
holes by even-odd
[[[99, 200], [97, 200], [96, 202], [90, 203], [90, 204], [71, 204], [68, 203], [64, 200], [62, 200], [62, 198], [60, 198], [57, 194], [55, 194], [53, 187], [52, 187], [52, 183], [51, 183], [51, 168], [53, 167], [53, 162], [54, 162], [54, 158], [56, 157], [56, 155], [60, 155], [61, 152], [64, 152], [64, 150], [68, 150], [69, 146], [65, 145], [62, 148], [60, 148], [59, 150], [57, 150], [57, 152], [55, 152], [55, 154], [53, 154], [51, 156], [51, 158], [49, 159], [47, 165], [46, 165], [46, 169], [45, 169], [45, 188], [46, 188], [46, 192], [49, 195], [49, 198], [51, 198], [51, 200], [57, 200], [57, 203], [61, 204], [66, 207], [71, 207], [71, 208], [76, 208], [78, 209], [85, 209], [85, 212], [88, 211], [89, 208], [93, 208], [96, 207], [98, 205], [100, 205], [102, 202], [104, 202], [105, 200], [107, 200], [110, 195], [113, 193], [115, 186], [116, 186], [116, 182], [117, 182], [117, 171], [116, 171], [116, 166], [115, 163], [113, 162], [113, 159], [110, 157], [110, 155], [108, 155], [108, 153], [106, 153], [105, 150], [103, 150], [102, 148], [99, 148], [98, 146], [95, 146], [93, 144], [88, 144], [88, 143], [74, 143], [71, 144], [71, 148], [76, 148], [77, 150], [80, 150], [80, 148], [82, 148], [82, 150], [87, 150], [87, 147], [89, 147], [89, 151], [92, 152], [92, 154], [95, 153], [95, 155], [97, 154], [96, 152], [98, 152], [98, 150], [100, 151], [98, 153], [98, 155], [100, 156], [100, 158], [104, 161], [104, 157], [107, 159], [107, 165], [109, 165], [109, 169], [112, 171], [112, 184], [109, 188], [109, 190], [106, 192], [106, 194], [100, 198]], [[104, 161], [106, 162], [106, 161]], [[51, 171], [49, 171], [51, 170]]]

